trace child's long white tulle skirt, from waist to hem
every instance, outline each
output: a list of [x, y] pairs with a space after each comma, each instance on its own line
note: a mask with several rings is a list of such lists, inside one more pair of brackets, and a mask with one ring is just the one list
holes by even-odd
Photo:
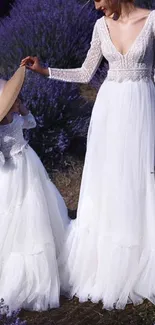
[[29, 146], [0, 168], [0, 298], [10, 311], [59, 306], [67, 224], [65, 203]]

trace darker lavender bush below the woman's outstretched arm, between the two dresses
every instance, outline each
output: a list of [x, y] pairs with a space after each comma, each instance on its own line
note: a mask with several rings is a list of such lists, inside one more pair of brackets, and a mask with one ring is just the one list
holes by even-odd
[[[34, 79], [34, 75], [31, 73], [29, 77], [30, 75]], [[41, 79], [43, 78], [38, 75], [35, 78], [41, 89], [43, 82]], [[67, 85], [51, 80], [45, 80], [45, 82], [44, 94], [40, 96], [43, 106], [41, 103], [38, 105], [38, 100], [35, 100], [39, 97], [39, 90], [36, 89], [36, 93], [34, 93], [34, 89], [32, 89], [31, 96], [29, 93], [26, 95], [25, 89], [24, 95], [28, 98], [27, 106], [37, 111], [37, 128], [35, 132], [31, 133], [31, 144], [44, 162], [52, 157], [54, 164], [63, 158], [63, 153], [71, 149], [76, 141], [80, 146], [79, 149], [76, 148], [76, 153], [78, 154], [80, 151], [81, 141], [84, 151], [91, 105], [80, 96], [79, 88], [76, 85]], [[54, 96], [49, 96], [49, 89], [52, 89]], [[34, 99], [31, 100], [33, 96]], [[46, 111], [44, 107], [46, 107]]]

